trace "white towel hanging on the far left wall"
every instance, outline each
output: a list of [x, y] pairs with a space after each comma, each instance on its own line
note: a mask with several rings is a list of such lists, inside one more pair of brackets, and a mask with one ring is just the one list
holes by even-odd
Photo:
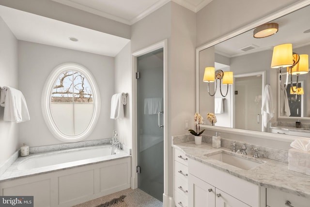
[[30, 120], [27, 103], [20, 90], [3, 87], [0, 92], [0, 105], [4, 107], [4, 121], [18, 123]]

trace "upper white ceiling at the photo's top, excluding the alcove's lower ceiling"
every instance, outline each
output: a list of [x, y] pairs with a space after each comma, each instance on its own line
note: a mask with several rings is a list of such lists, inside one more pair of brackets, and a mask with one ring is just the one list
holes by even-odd
[[52, 0], [86, 12], [132, 25], [169, 1], [198, 12], [212, 0]]

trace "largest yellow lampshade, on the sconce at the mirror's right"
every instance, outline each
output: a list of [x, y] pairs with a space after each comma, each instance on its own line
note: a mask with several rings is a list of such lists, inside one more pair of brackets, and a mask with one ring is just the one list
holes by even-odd
[[271, 68], [289, 67], [293, 65], [293, 45], [279, 44], [273, 48]]

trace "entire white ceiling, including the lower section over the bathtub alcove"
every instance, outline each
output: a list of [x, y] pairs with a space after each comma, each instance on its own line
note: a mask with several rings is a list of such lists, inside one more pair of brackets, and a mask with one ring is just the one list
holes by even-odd
[[[53, 0], [132, 25], [170, 0]], [[212, 0], [173, 0], [197, 12]], [[130, 41], [0, 5], [0, 17], [18, 40], [115, 57]], [[69, 37], [78, 39], [72, 42]]]

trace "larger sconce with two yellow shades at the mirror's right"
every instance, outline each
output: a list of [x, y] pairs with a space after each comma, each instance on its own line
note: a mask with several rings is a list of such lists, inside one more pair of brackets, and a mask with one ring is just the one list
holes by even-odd
[[[286, 82], [282, 88], [282, 68], [287, 67]], [[293, 53], [292, 44], [279, 44], [273, 48], [271, 68], [279, 68], [280, 70], [280, 87], [282, 90], [287, 88], [288, 76], [291, 75], [291, 89], [296, 92], [298, 89], [299, 74], [307, 74], [309, 72], [309, 58], [307, 54], [298, 55]], [[297, 76], [296, 87], [293, 87], [293, 75]]]

